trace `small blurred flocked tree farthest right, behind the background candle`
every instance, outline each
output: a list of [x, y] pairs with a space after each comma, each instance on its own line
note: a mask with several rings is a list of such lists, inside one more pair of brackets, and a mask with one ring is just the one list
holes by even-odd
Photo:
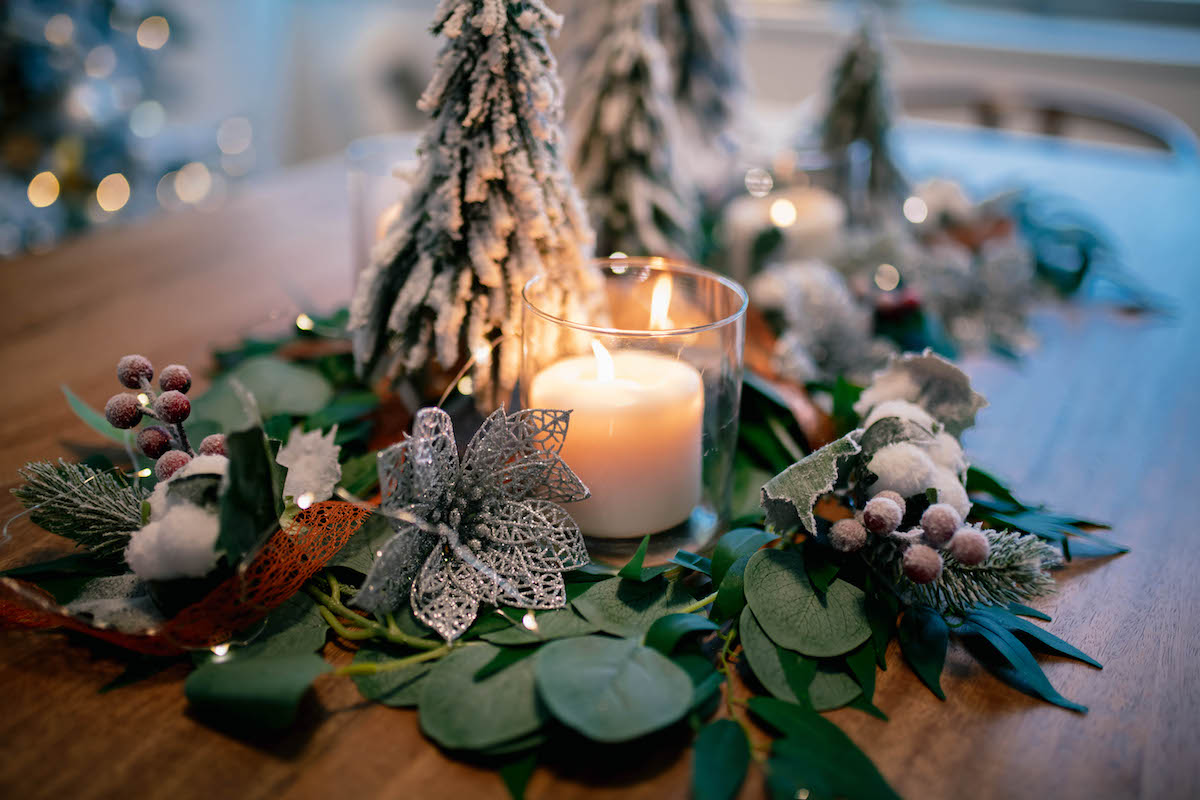
[[869, 185], [875, 194], [899, 193], [905, 182], [888, 148], [894, 101], [886, 68], [878, 36], [868, 20], [838, 60], [821, 128], [821, 146], [830, 155], [844, 154], [854, 142], [870, 145]]

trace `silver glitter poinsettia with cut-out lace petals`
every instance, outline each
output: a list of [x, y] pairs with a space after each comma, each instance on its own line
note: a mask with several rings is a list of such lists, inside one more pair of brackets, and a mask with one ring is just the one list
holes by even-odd
[[413, 434], [379, 453], [380, 512], [396, 535], [377, 554], [354, 603], [413, 613], [446, 640], [481, 603], [566, 604], [563, 572], [588, 564], [578, 525], [559, 503], [589, 492], [558, 455], [570, 411], [493, 413], [455, 446], [450, 416], [416, 413]]

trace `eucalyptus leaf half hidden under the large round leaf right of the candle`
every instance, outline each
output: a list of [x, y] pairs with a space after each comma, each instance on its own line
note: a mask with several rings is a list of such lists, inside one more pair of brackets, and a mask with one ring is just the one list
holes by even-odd
[[[790, 680], [790, 673], [799, 672], [802, 661], [811, 661], [798, 652], [785, 650], [776, 645], [758, 625], [754, 612], [746, 608], [738, 622], [742, 636], [742, 648], [755, 678], [763, 687], [781, 700], [790, 703], [810, 703], [817, 711], [841, 708], [863, 693], [854, 679], [845, 672], [824, 663], [817, 663], [816, 670], [808, 684], [808, 698], [802, 698]], [[791, 668], [785, 668], [786, 662]]]

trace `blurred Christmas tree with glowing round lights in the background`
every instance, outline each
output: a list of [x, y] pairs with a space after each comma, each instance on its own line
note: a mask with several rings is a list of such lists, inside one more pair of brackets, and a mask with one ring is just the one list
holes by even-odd
[[[47, 6], [65, 11], [47, 16]], [[148, 96], [155, 59], [175, 37], [145, 2], [13, 0], [0, 10], [0, 35], [10, 73], [0, 98], [0, 258], [155, 207], [215, 210], [228, 184], [254, 168], [247, 118], [224, 119], [215, 138], [173, 132], [167, 108]]]

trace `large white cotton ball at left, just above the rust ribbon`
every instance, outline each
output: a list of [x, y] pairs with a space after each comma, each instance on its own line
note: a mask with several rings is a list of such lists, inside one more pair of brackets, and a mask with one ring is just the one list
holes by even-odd
[[143, 581], [202, 578], [217, 565], [217, 515], [191, 504], [174, 505], [156, 522], [133, 531], [125, 560]]

